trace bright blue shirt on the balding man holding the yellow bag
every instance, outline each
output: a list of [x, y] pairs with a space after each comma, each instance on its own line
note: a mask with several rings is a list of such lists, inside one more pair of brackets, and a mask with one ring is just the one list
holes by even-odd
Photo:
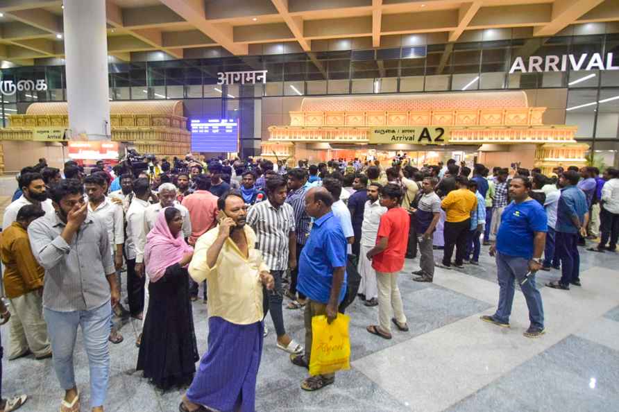
[[[346, 237], [333, 212], [314, 221], [298, 261], [296, 289], [316, 302], [327, 304], [333, 268], [346, 268]], [[346, 271], [337, 303], [346, 295]]]

